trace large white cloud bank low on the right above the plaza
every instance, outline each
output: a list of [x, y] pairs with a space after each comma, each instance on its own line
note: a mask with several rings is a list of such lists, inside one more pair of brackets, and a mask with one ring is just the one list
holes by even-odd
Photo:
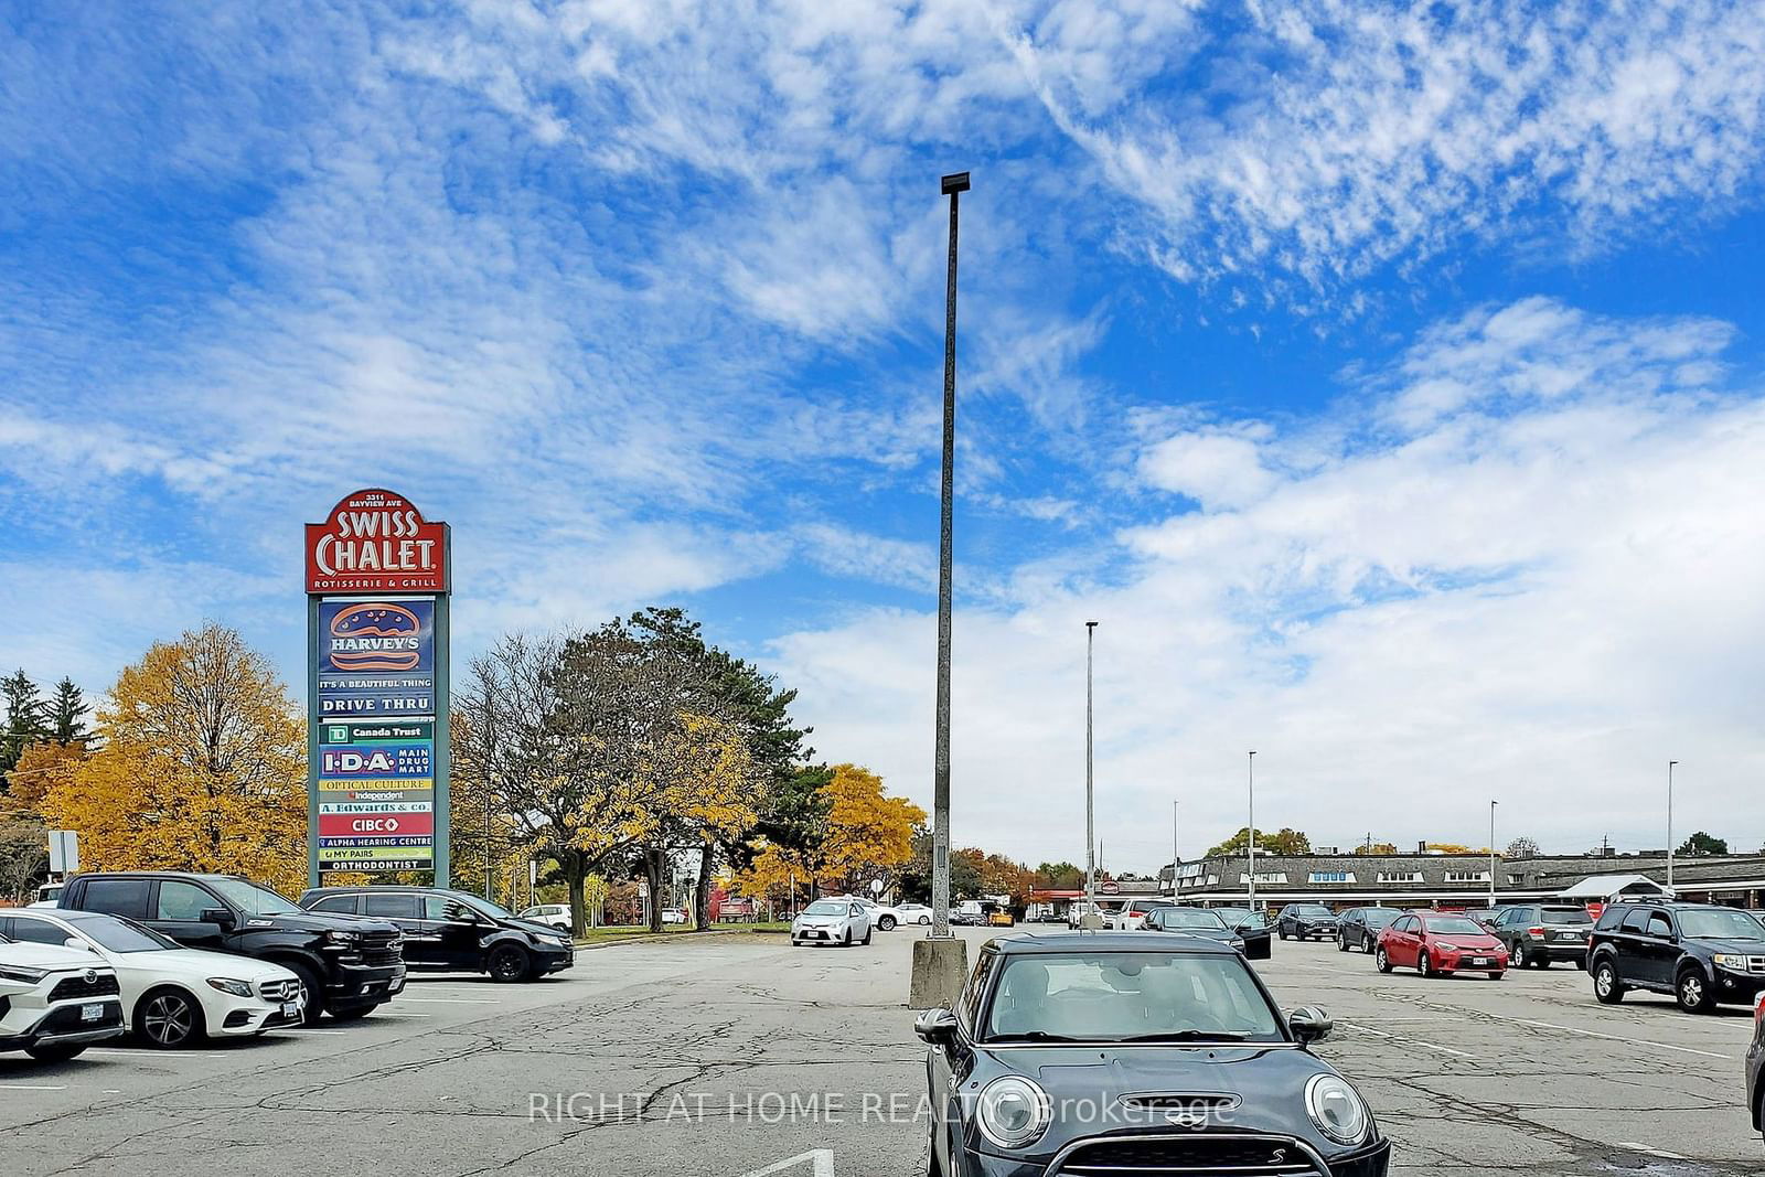
[[[1548, 348], [1520, 328], [1546, 321]], [[1015, 602], [960, 611], [957, 842], [1080, 861], [1096, 618], [1100, 836], [1117, 868], [1168, 861], [1172, 798], [1190, 852], [1243, 824], [1250, 748], [1262, 819], [1320, 843], [1481, 845], [1498, 798], [1504, 840], [1659, 847], [1664, 762], [1696, 759], [1679, 822], [1760, 845], [1765, 399], [1656, 376], [1719, 371], [1726, 334], [1536, 300], [1479, 311], [1373, 381], [1361, 431], [1237, 436], [1255, 452], [1202, 476], [1255, 494], [1124, 531], [1121, 582], [1024, 577]], [[1509, 395], [1507, 374], [1546, 360], [1594, 376]], [[1440, 367], [1472, 381], [1460, 415], [1389, 432], [1391, 406]], [[1197, 434], [1179, 438], [1184, 452]], [[849, 618], [777, 656], [822, 746], [928, 799], [928, 616]]]

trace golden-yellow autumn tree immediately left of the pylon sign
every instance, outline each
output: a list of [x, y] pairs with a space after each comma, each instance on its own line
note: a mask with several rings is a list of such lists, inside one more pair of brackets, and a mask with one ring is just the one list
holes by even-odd
[[101, 746], [51, 775], [44, 817], [79, 831], [86, 870], [212, 870], [298, 891], [305, 725], [268, 660], [208, 623], [125, 667]]

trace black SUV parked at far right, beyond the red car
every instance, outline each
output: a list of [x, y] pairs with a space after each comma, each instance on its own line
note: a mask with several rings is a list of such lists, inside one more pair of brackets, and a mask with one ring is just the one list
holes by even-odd
[[1680, 1009], [1751, 1002], [1765, 990], [1765, 923], [1714, 903], [1613, 903], [1588, 935], [1594, 997], [1610, 1004], [1633, 988], [1671, 993]]

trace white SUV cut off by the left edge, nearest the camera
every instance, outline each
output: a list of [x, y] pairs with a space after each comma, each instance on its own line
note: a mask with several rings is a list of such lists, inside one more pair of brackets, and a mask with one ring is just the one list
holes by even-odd
[[115, 969], [92, 953], [0, 937], [0, 1050], [65, 1062], [122, 1032]]

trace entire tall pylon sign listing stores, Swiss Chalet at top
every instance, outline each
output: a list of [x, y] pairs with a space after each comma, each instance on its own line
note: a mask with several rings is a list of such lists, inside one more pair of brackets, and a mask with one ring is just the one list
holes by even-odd
[[385, 489], [307, 524], [307, 884], [432, 872], [448, 884], [445, 522]]

